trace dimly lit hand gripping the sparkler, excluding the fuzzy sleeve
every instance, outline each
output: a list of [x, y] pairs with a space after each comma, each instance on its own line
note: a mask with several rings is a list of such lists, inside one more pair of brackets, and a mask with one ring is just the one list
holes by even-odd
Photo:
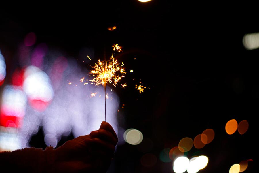
[[99, 130], [69, 140], [54, 150], [55, 171], [106, 172], [117, 142], [112, 126], [103, 121]]

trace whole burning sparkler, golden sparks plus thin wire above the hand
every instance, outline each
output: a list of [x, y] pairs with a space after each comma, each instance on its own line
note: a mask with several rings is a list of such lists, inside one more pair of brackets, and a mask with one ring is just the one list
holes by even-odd
[[[118, 46], [118, 44], [115, 44], [113, 46], [113, 51], [115, 50], [117, 52], [121, 52], [122, 47]], [[92, 67], [93, 69], [91, 70], [91, 73], [90, 73], [92, 74], [91, 76], [93, 76], [93, 79], [89, 80], [91, 82], [94, 82], [96, 86], [97, 85], [104, 86], [105, 121], [106, 121], [106, 98], [108, 97], [108, 94], [106, 95], [106, 84], [110, 83], [116, 87], [117, 83], [124, 77], [123, 75], [126, 74], [125, 68], [122, 68], [124, 63], [120, 65], [120, 63], [117, 61], [117, 59], [113, 57], [113, 55], [114, 54], [112, 54], [111, 58], [107, 61], [105, 60], [105, 58], [104, 58], [104, 61], [100, 61], [100, 59], [98, 59], [98, 63], [95, 63], [95, 66]]]

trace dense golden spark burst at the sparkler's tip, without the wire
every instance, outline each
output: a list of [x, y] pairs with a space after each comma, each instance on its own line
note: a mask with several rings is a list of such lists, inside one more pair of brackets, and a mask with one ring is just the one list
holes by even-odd
[[[116, 72], [120, 72], [122, 75], [117, 75]], [[107, 83], [113, 83], [114, 86], [121, 80], [123, 74], [125, 74], [125, 68], [119, 66], [118, 61], [112, 56], [108, 61], [100, 61], [95, 63], [93, 70], [91, 71], [94, 78], [92, 82], [95, 82], [96, 85], [106, 85]], [[89, 75], [90, 76], [90, 75]]]

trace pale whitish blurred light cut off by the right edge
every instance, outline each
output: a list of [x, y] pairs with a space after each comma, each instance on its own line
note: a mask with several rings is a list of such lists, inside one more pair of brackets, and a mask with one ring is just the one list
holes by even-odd
[[243, 45], [247, 50], [259, 48], [259, 33], [251, 33], [244, 35]]

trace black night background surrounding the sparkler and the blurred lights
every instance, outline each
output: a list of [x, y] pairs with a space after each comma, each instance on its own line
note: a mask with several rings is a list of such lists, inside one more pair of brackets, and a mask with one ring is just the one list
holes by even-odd
[[[92, 60], [103, 57], [104, 49], [110, 54], [114, 43], [123, 46], [119, 58], [134, 72], [127, 73], [130, 87], [115, 89], [120, 106], [125, 104], [118, 113], [119, 126], [138, 129], [151, 139], [154, 146], [149, 153], [157, 156], [157, 163], [151, 168], [141, 166], [144, 153], [126, 143], [117, 147], [110, 172], [173, 172], [172, 161], [160, 161], [159, 153], [209, 128], [215, 131], [212, 143], [188, 152], [188, 157], [196, 151], [208, 156], [208, 166], [199, 172], [228, 172], [247, 159], [255, 164], [259, 52], [242, 44], [246, 33], [259, 31], [252, 13], [231, 5], [187, 7], [156, 0], [63, 3], [0, 7], [0, 48], [8, 57], [5, 82], [18, 66], [14, 55], [28, 32], [36, 33], [37, 42], [75, 59], [83, 46], [94, 48]], [[107, 30], [114, 25], [116, 30]], [[150, 88], [142, 94], [134, 88], [140, 81]], [[246, 119], [247, 133], [226, 134], [230, 119], [238, 123]], [[46, 147], [42, 131], [30, 144]], [[245, 172], [253, 171], [252, 164], [248, 168]]]

